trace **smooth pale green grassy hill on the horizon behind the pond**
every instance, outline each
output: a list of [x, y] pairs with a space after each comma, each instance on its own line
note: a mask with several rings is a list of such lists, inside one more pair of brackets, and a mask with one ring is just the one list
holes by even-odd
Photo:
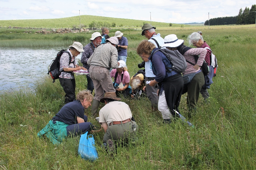
[[[81, 15], [81, 24], [88, 27], [88, 25], [96, 20], [101, 22], [110, 22], [115, 23], [116, 26], [123, 25], [124, 27], [141, 27], [144, 23], [150, 23], [150, 21], [143, 20], [131, 20], [131, 19], [123, 19], [123, 18], [110, 18], [104, 16], [92, 16], [92, 15]], [[1, 27], [73, 27], [76, 25], [79, 27], [80, 21], [79, 16], [67, 17], [67, 18], [56, 18], [56, 19], [38, 19], [38, 20], [0, 20]], [[152, 22], [154, 26], [169, 26], [169, 23], [164, 22]], [[178, 25], [178, 24], [174, 24]]]

